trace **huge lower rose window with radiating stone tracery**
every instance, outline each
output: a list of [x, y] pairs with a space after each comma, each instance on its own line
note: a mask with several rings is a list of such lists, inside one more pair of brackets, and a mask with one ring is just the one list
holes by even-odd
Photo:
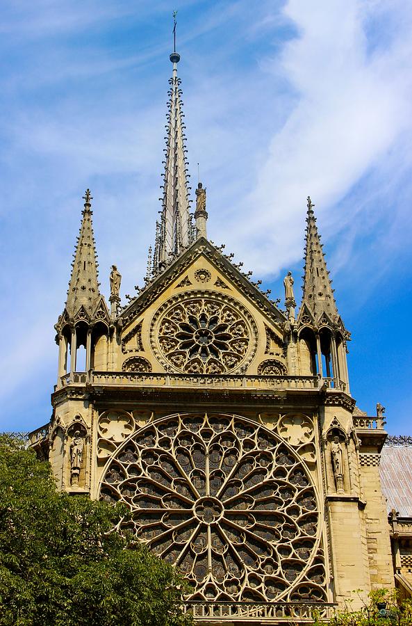
[[324, 601], [318, 504], [306, 467], [278, 435], [230, 415], [186, 414], [117, 450], [101, 498], [193, 587], [192, 599]]

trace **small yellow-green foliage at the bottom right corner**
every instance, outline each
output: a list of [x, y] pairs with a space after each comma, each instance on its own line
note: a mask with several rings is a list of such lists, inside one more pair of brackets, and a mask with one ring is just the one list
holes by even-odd
[[[330, 621], [330, 626], [412, 626], [412, 600], [399, 600], [396, 590], [371, 591], [361, 609], [352, 609], [353, 600], [346, 603]], [[315, 626], [321, 622], [315, 621]]]

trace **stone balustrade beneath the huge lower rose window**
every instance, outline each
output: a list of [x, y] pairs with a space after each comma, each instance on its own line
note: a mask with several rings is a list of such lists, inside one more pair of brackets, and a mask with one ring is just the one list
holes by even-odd
[[233, 620], [258, 622], [269, 620], [276, 623], [313, 624], [313, 619], [327, 621], [333, 617], [336, 604], [320, 604], [318, 602], [186, 602], [185, 613], [191, 613], [196, 621]]

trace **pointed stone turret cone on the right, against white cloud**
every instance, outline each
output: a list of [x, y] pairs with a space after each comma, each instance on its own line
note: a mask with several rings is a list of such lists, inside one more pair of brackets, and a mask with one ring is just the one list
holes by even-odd
[[308, 197], [308, 212], [306, 216], [306, 246], [305, 246], [305, 267], [304, 285], [301, 310], [308, 307], [314, 321], [319, 321], [323, 313], [326, 313], [330, 321], [334, 323], [338, 319], [338, 309], [327, 264], [320, 243], [320, 234], [316, 225], [316, 218], [313, 212], [315, 206], [311, 198]]

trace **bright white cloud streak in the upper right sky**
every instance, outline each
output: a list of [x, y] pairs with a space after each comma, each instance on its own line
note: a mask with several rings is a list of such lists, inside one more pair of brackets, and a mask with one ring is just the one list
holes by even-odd
[[[329, 209], [329, 230], [339, 230], [348, 216], [331, 214], [331, 207], [411, 132], [412, 40], [402, 33], [390, 47], [368, 54], [368, 15], [361, 8], [354, 0], [291, 0], [284, 9], [299, 35], [267, 70], [284, 74], [296, 104], [272, 136], [245, 201], [258, 211], [252, 220], [240, 218], [229, 235], [237, 246], [243, 241], [247, 262], [261, 274], [302, 255], [306, 195], [318, 214]], [[401, 13], [411, 19], [409, 8]]]

